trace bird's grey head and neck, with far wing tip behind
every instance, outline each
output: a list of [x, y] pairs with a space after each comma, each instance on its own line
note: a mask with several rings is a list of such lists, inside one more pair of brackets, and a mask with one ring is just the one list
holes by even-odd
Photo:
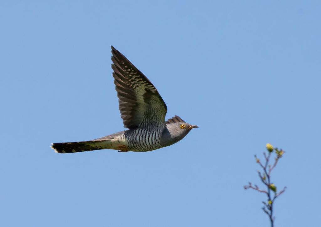
[[161, 136], [161, 145], [163, 147], [180, 141], [191, 131], [192, 128], [198, 128], [196, 125], [186, 123], [176, 115], [175, 117], [168, 119], [165, 123], [166, 128], [163, 130]]

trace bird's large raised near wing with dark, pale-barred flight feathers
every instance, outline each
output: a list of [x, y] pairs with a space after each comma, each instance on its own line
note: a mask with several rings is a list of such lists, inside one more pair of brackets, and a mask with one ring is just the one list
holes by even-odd
[[152, 83], [111, 46], [111, 68], [124, 127], [165, 127], [167, 107]]

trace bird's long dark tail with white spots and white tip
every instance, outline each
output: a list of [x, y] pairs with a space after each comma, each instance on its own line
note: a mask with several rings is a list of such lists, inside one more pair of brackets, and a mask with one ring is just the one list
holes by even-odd
[[65, 143], [51, 143], [51, 148], [56, 153], [74, 153], [89, 150], [107, 149], [110, 142], [105, 141], [82, 141], [82, 142], [65, 142]]

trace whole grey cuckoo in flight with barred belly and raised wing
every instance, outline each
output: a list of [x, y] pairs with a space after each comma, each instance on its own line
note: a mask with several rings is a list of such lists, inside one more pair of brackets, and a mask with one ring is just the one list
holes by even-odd
[[176, 116], [165, 121], [167, 106], [152, 83], [128, 59], [111, 46], [111, 68], [119, 110], [128, 130], [82, 142], [52, 143], [57, 153], [114, 149], [150, 151], [183, 139], [196, 125]]

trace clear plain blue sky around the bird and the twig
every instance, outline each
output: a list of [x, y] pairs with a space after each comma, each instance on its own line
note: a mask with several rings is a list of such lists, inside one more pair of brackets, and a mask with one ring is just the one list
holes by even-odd
[[[275, 226], [317, 226], [318, 1], [0, 3], [2, 226], [269, 226], [254, 154], [272, 172]], [[115, 46], [198, 125], [151, 152], [57, 154], [52, 142], [124, 130]], [[261, 186], [261, 184], [259, 184]]]

